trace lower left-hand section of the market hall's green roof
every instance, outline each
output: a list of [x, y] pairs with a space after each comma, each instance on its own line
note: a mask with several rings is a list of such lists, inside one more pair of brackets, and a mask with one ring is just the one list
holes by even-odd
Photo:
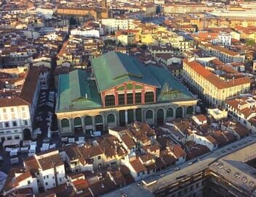
[[95, 80], [88, 80], [84, 70], [73, 70], [59, 75], [56, 111], [100, 108], [100, 93]]

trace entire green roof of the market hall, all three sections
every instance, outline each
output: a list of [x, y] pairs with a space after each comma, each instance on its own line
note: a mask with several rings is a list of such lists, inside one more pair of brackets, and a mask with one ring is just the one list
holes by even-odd
[[145, 66], [132, 56], [116, 52], [92, 62], [96, 80], [89, 80], [84, 70], [59, 75], [56, 112], [99, 109], [102, 107], [99, 91], [128, 81], [156, 86], [157, 102], [196, 99], [164, 67]]

